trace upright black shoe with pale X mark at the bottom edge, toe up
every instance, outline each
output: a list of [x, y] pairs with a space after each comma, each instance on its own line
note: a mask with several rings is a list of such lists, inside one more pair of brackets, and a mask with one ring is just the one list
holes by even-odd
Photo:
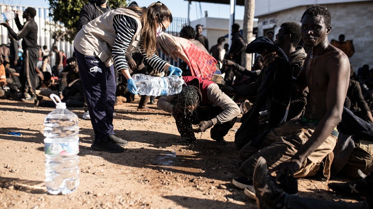
[[285, 193], [268, 173], [267, 162], [263, 157], [259, 157], [253, 176], [257, 207], [259, 209], [282, 208], [285, 204]]

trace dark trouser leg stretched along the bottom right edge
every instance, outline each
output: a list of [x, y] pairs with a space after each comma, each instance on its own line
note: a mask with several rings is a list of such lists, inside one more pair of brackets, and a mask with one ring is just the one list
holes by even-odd
[[314, 209], [314, 208], [338, 208], [338, 209], [370, 209], [373, 207], [372, 202], [364, 201], [358, 203], [344, 202], [344, 201], [327, 201], [314, 199], [309, 197], [300, 197], [298, 195], [286, 194], [287, 209]]

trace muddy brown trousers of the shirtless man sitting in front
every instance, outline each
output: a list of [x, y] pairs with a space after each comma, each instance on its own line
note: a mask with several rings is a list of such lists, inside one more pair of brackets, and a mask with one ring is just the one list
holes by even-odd
[[[316, 123], [303, 123], [301, 119], [290, 120], [270, 131], [255, 147], [251, 146], [251, 143], [245, 145], [239, 153], [239, 157], [245, 160], [242, 164], [245, 176], [253, 177], [253, 164], [259, 157], [266, 159], [269, 169], [292, 158], [311, 137], [316, 126]], [[333, 131], [325, 142], [307, 157], [294, 177], [315, 176], [320, 168], [318, 176], [328, 180], [338, 135], [337, 131]]]

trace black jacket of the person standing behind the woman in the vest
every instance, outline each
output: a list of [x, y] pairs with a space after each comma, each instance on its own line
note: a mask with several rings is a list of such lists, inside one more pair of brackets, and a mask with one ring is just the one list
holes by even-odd
[[[113, 10], [112, 7], [107, 4], [106, 12]], [[98, 16], [103, 15], [104, 12], [101, 11], [100, 5], [91, 1], [90, 3], [86, 4], [82, 10], [80, 10], [80, 17], [78, 20], [78, 31], [83, 28], [84, 25], [91, 22], [92, 20], [96, 19]]]

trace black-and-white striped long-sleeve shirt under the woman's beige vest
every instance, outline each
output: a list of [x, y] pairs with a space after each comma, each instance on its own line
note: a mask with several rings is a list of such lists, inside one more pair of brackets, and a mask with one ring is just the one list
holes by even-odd
[[[126, 15], [115, 15], [113, 19], [113, 26], [115, 32], [117, 33], [117, 37], [114, 41], [112, 49], [113, 60], [118, 72], [120, 72], [121, 69], [128, 69], [125, 54], [129, 44], [131, 43], [132, 37], [137, 30], [137, 22], [132, 17], [128, 17]], [[146, 51], [142, 47], [142, 42], [139, 44], [139, 48], [142, 56], [151, 65], [151, 67], [162, 72], [166, 62], [156, 54], [148, 58]]]

